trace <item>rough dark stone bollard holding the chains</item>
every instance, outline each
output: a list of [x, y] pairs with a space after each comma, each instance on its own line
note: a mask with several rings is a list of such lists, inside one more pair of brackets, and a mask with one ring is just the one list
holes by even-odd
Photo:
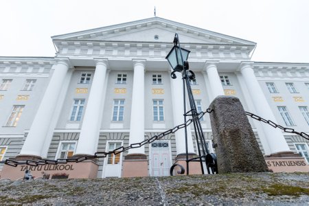
[[209, 108], [218, 173], [268, 171], [240, 100], [220, 95]]

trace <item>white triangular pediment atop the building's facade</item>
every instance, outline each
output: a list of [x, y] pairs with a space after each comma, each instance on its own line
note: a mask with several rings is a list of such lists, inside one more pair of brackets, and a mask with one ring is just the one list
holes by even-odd
[[190, 44], [226, 44], [226, 45], [255, 45], [251, 41], [227, 36], [177, 23], [159, 17], [100, 27], [93, 30], [74, 32], [52, 36], [53, 40], [68, 41], [117, 41], [117, 42], [151, 42], [172, 43], [174, 34], [179, 34], [181, 43]]

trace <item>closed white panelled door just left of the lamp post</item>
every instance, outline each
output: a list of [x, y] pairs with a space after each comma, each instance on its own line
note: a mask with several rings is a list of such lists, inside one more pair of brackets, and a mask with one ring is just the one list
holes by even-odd
[[170, 175], [170, 146], [168, 141], [151, 144], [151, 176]]

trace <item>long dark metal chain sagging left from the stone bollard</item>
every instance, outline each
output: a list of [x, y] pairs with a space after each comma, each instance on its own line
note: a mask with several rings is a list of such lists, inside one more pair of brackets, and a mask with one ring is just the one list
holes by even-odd
[[160, 133], [159, 135], [155, 135], [153, 137], [151, 137], [150, 139], [145, 139], [144, 141], [141, 141], [139, 143], [135, 143], [135, 144], [130, 144], [127, 147], [121, 146], [119, 148], [116, 148], [113, 151], [110, 152], [95, 152], [95, 155], [82, 155], [79, 157], [71, 157], [71, 158], [67, 158], [67, 159], [56, 159], [56, 160], [52, 160], [52, 159], [39, 159], [39, 160], [23, 160], [23, 161], [17, 161], [17, 160], [13, 160], [13, 159], [6, 159], [5, 161], [0, 161], [0, 163], [4, 163], [6, 165], [10, 165], [13, 167], [16, 167], [17, 165], [31, 165], [31, 166], [38, 166], [38, 165], [58, 165], [58, 164], [66, 164], [69, 162], [81, 162], [81, 161], [85, 161], [88, 159], [100, 159], [100, 158], [105, 158], [108, 155], [114, 154], [117, 155], [121, 152], [125, 152], [126, 150], [130, 150], [130, 149], [134, 149], [134, 148], [140, 148], [141, 146], [144, 146], [145, 144], [150, 144], [153, 141], [156, 141], [158, 139], [161, 139], [162, 137], [166, 136], [166, 135], [170, 135], [172, 133], [176, 133], [177, 130], [180, 130], [181, 128], [185, 128], [187, 126], [189, 126], [190, 124], [192, 124], [192, 122], [194, 122], [194, 120], [196, 119], [201, 119], [206, 113], [211, 113], [213, 110], [211, 108], [207, 108], [207, 110], [201, 111], [200, 113], [198, 113], [197, 117], [194, 117], [192, 119], [188, 119], [187, 122], [183, 123], [183, 124], [179, 124], [178, 126], [175, 126], [174, 128], [170, 129], [170, 130], [166, 130], [163, 133]]

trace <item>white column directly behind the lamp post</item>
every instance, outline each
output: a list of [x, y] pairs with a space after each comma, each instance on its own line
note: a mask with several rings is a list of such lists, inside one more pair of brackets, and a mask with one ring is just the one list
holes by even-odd
[[[176, 79], [171, 79], [172, 86], [172, 107], [174, 126], [183, 124], [183, 80], [181, 73], [176, 72]], [[187, 91], [185, 91], [187, 93]], [[187, 100], [187, 98], [186, 98]], [[186, 101], [188, 103], [188, 100]], [[190, 117], [187, 117], [189, 119]], [[185, 128], [182, 128], [175, 133], [177, 155], [185, 154]], [[192, 133], [190, 126], [187, 127], [187, 148], [189, 153], [194, 152]]]

